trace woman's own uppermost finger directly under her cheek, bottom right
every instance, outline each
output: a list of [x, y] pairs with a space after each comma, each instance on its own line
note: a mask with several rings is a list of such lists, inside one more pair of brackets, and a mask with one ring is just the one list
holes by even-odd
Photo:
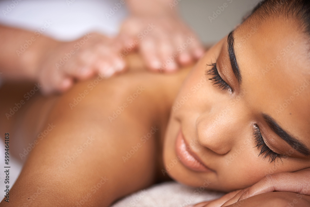
[[265, 176], [259, 182], [245, 191], [239, 200], [249, 198], [261, 193], [273, 191], [289, 191], [310, 195], [310, 172], [299, 171], [299, 173], [276, 173]]

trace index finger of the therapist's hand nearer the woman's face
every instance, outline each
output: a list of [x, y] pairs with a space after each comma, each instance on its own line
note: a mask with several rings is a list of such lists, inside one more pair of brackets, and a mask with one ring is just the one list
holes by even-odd
[[140, 54], [143, 57], [147, 67], [153, 71], [158, 71], [161, 67], [160, 58], [158, 57], [155, 39], [152, 37], [145, 37], [140, 42]]

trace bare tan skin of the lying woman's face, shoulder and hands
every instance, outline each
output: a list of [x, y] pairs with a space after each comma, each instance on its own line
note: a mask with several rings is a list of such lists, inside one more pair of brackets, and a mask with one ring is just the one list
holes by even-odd
[[[89, 82], [78, 83], [68, 93], [56, 98], [55, 102], [51, 103], [53, 106], [41, 129], [47, 128], [48, 124], [54, 124], [55, 128], [31, 151], [20, 178], [10, 192], [12, 203], [16, 203], [12, 205], [10, 202], [9, 205], [22, 205], [28, 198], [33, 198], [33, 192], [38, 192], [40, 196], [33, 201], [33, 206], [72, 206], [79, 202], [81, 197], [87, 196], [87, 193], [91, 196], [84, 205], [108, 206], [124, 195], [162, 180], [159, 176], [162, 169], [176, 181], [187, 185], [200, 186], [204, 180], [209, 179], [211, 183], [208, 189], [231, 191], [255, 184], [270, 173], [270, 170], [274, 173], [301, 172], [300, 170], [309, 168], [309, 157], [272, 132], [261, 117], [261, 113], [271, 115], [286, 131], [298, 137], [297, 140], [309, 148], [306, 136], [309, 122], [309, 111], [306, 111], [309, 88], [304, 86], [303, 93], [296, 96], [295, 101], [280, 115], [274, 110], [290, 97], [296, 85], [304, 83], [303, 78], [309, 68], [308, 56], [304, 52], [306, 36], [299, 32], [298, 26], [295, 30], [292, 29], [294, 23], [296, 24], [294, 21], [288, 24], [279, 19], [271, 19], [269, 22], [260, 22], [252, 38], [241, 42], [241, 38], [250, 32], [251, 25], [257, 22], [251, 23], [253, 22], [246, 21], [234, 32], [234, 49], [242, 84], [238, 82], [229, 65], [228, 37], [225, 37], [201, 58], [182, 86], [186, 70], [171, 76], [126, 74], [100, 81], [76, 106], [70, 103], [79, 96], [78, 93], [88, 89]], [[280, 29], [285, 32], [278, 33]], [[262, 37], [264, 42], [260, 41]], [[292, 38], [295, 38], [297, 43], [291, 48], [291, 52], [287, 53], [286, 59], [279, 61], [267, 74], [263, 74], [261, 69], [270, 62], [270, 57], [276, 57]], [[202, 81], [205, 70], [210, 69], [206, 64], [215, 60], [218, 61], [219, 74], [232, 90], [227, 87], [228, 89], [221, 91], [211, 81]], [[207, 74], [207, 78], [214, 77]], [[198, 88], [196, 92], [191, 90], [193, 85]], [[115, 119], [110, 119], [113, 111], [124, 106], [127, 97], [138, 92], [137, 89], [141, 86], [145, 90], [137, 94], [138, 97]], [[180, 101], [191, 92], [192, 96], [187, 101]], [[266, 97], [269, 97], [269, 102], [265, 101]], [[178, 102], [182, 103], [182, 106], [178, 106]], [[171, 106], [171, 118], [167, 124]], [[224, 118], [219, 116], [223, 109], [227, 109]], [[276, 163], [269, 162], [268, 158], [257, 156], [259, 149], [255, 147], [254, 124], [260, 127], [263, 142], [282, 156], [283, 163], [279, 162], [277, 168]], [[293, 130], [292, 125], [296, 130]], [[149, 139], [139, 147], [138, 143], [142, 141], [140, 137], [152, 132], [154, 126], [158, 126], [154, 139]], [[180, 128], [184, 133], [183, 139], [188, 143], [196, 143], [190, 151], [195, 152], [203, 160], [201, 162], [207, 163], [211, 171], [197, 172], [188, 167], [186, 159], [183, 158], [171, 169], [167, 168], [166, 164], [177, 155], [175, 140]], [[166, 135], [162, 164], [160, 156], [164, 133]], [[74, 161], [64, 166], [64, 162], [77, 153], [79, 145], [87, 142], [87, 137], [93, 137], [94, 140], [88, 138], [91, 143], [87, 143], [87, 147], [77, 154]], [[244, 142], [246, 140], [248, 142]], [[138, 150], [133, 152], [128, 160], [124, 159], [126, 153], [134, 150], [135, 146]], [[227, 164], [225, 160], [229, 160], [229, 155], [238, 149], [239, 156], [233, 163]], [[92, 186], [100, 182], [103, 187], [100, 187], [95, 195], [91, 194]], [[234, 206], [243, 192], [234, 191], [219, 200], [197, 206]], [[300, 199], [295, 203], [294, 199], [297, 198]], [[241, 204], [241, 201], [238, 202]], [[292, 192], [268, 192], [243, 200], [242, 206], [283, 206], [291, 202], [294, 202], [294, 206], [306, 206], [310, 204], [310, 196]], [[1, 205], [4, 206], [4, 201]]]

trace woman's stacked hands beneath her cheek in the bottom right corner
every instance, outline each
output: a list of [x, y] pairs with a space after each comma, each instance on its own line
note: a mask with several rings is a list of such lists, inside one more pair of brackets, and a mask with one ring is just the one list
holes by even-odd
[[232, 191], [225, 196], [194, 205], [194, 207], [224, 206], [310, 206], [310, 168], [294, 173], [265, 176], [253, 186]]

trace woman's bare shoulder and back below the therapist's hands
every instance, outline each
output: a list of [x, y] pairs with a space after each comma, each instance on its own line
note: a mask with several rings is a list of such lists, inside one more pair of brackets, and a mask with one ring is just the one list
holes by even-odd
[[[82, 195], [93, 195], [91, 188], [101, 181], [101, 177], [107, 178], [104, 187], [87, 201], [86, 206], [108, 206], [116, 199], [158, 180], [169, 179], [167, 176], [161, 178], [162, 158], [157, 155], [162, 154], [162, 139], [170, 107], [187, 71], [168, 76], [128, 73], [102, 80], [93, 90], [87, 86], [94, 80], [81, 82], [60, 97], [45, 98], [38, 93], [9, 120], [2, 117], [1, 122], [7, 125], [1, 127], [1, 133], [10, 132], [10, 147], [19, 153], [33, 142], [33, 138], [37, 137], [34, 135], [48, 128], [48, 124], [55, 126], [31, 151], [20, 177], [10, 191], [9, 206], [23, 205], [28, 198], [34, 199], [37, 193], [39, 196], [33, 200], [32, 206], [47, 206], [47, 201], [52, 201], [51, 206], [73, 206]], [[137, 92], [138, 87], [142, 88], [142, 92], [130, 103], [126, 99]], [[9, 97], [5, 94], [9, 88], [12, 87], [4, 86], [1, 89], [1, 97], [7, 97], [7, 102], [2, 102], [0, 107], [3, 114], [8, 106], [23, 99], [20, 95], [29, 90], [27, 88], [20, 94], [11, 93], [16, 97]], [[84, 90], [89, 93], [71, 110], [69, 103]], [[128, 107], [111, 123], [108, 117], [124, 103], [128, 103]], [[146, 104], [146, 107], [141, 107]], [[34, 110], [44, 112], [32, 113]], [[16, 120], [19, 120], [18, 125], [15, 124]], [[38, 125], [41, 127], [37, 130], [29, 130]], [[156, 133], [147, 142], [141, 142], [140, 138], [149, 133], [152, 127], [158, 129]], [[19, 133], [13, 133], [15, 129], [19, 129]], [[16, 142], [20, 142], [17, 138], [14, 142], [13, 137], [17, 136], [24, 138], [24, 145], [20, 148], [15, 148]], [[79, 154], [77, 147], [87, 142], [87, 137], [94, 140]], [[126, 151], [130, 151], [131, 146], [137, 143], [141, 143], [142, 147], [124, 162], [122, 156], [126, 156]], [[60, 169], [68, 156], [74, 153], [78, 153], [74, 162]], [[47, 170], [47, 163], [51, 170]], [[57, 179], [51, 179], [53, 177]], [[57, 199], [55, 195], [58, 195]], [[7, 204], [2, 201], [1, 206]]]

